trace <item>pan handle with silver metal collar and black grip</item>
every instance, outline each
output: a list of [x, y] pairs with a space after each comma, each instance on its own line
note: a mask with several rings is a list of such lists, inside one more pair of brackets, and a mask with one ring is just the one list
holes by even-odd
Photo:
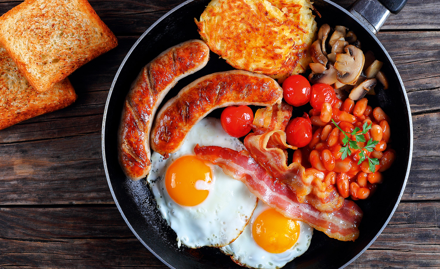
[[407, 0], [357, 0], [352, 4], [350, 13], [377, 34], [390, 13], [399, 13]]

